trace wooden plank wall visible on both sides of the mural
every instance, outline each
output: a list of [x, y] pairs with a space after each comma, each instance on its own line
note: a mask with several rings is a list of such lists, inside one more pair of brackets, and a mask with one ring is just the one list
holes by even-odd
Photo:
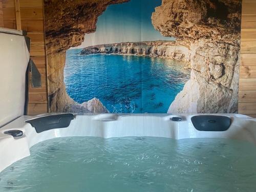
[[[14, 0], [2, 1], [4, 26], [16, 29], [15, 2]], [[30, 84], [29, 114], [46, 113], [48, 110], [43, 1], [44, 0], [19, 0], [22, 29], [28, 31], [28, 36], [31, 38], [31, 57], [42, 76], [42, 88], [33, 89]], [[243, 0], [239, 113], [247, 114], [252, 117], [256, 117], [255, 10], [256, 0]]]

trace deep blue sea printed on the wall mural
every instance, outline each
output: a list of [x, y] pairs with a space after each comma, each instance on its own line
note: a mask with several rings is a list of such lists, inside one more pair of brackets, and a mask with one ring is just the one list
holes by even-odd
[[96, 97], [111, 113], [166, 113], [190, 76], [181, 61], [80, 51], [67, 51], [67, 93], [78, 103]]

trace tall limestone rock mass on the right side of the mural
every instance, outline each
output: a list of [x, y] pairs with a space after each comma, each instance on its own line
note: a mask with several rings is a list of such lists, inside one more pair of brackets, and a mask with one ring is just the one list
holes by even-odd
[[190, 50], [191, 77], [168, 113], [236, 113], [240, 63], [239, 0], [162, 0], [152, 24]]

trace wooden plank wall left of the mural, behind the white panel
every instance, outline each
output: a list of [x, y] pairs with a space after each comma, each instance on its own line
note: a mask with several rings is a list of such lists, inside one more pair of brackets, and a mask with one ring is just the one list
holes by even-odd
[[[0, 0], [1, 1], [1, 0]], [[46, 51], [44, 32], [44, 0], [3, 0], [4, 27], [17, 29], [15, 1], [19, 1], [20, 24], [31, 38], [30, 56], [41, 73], [42, 87], [32, 88], [29, 81], [28, 114], [48, 112]], [[1, 13], [1, 12], [0, 12]], [[31, 79], [31, 77], [29, 77]]]

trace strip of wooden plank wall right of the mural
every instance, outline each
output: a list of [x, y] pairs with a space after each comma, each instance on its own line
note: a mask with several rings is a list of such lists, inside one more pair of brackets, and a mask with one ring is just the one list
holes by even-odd
[[256, 117], [256, 0], [243, 0], [239, 113]]

